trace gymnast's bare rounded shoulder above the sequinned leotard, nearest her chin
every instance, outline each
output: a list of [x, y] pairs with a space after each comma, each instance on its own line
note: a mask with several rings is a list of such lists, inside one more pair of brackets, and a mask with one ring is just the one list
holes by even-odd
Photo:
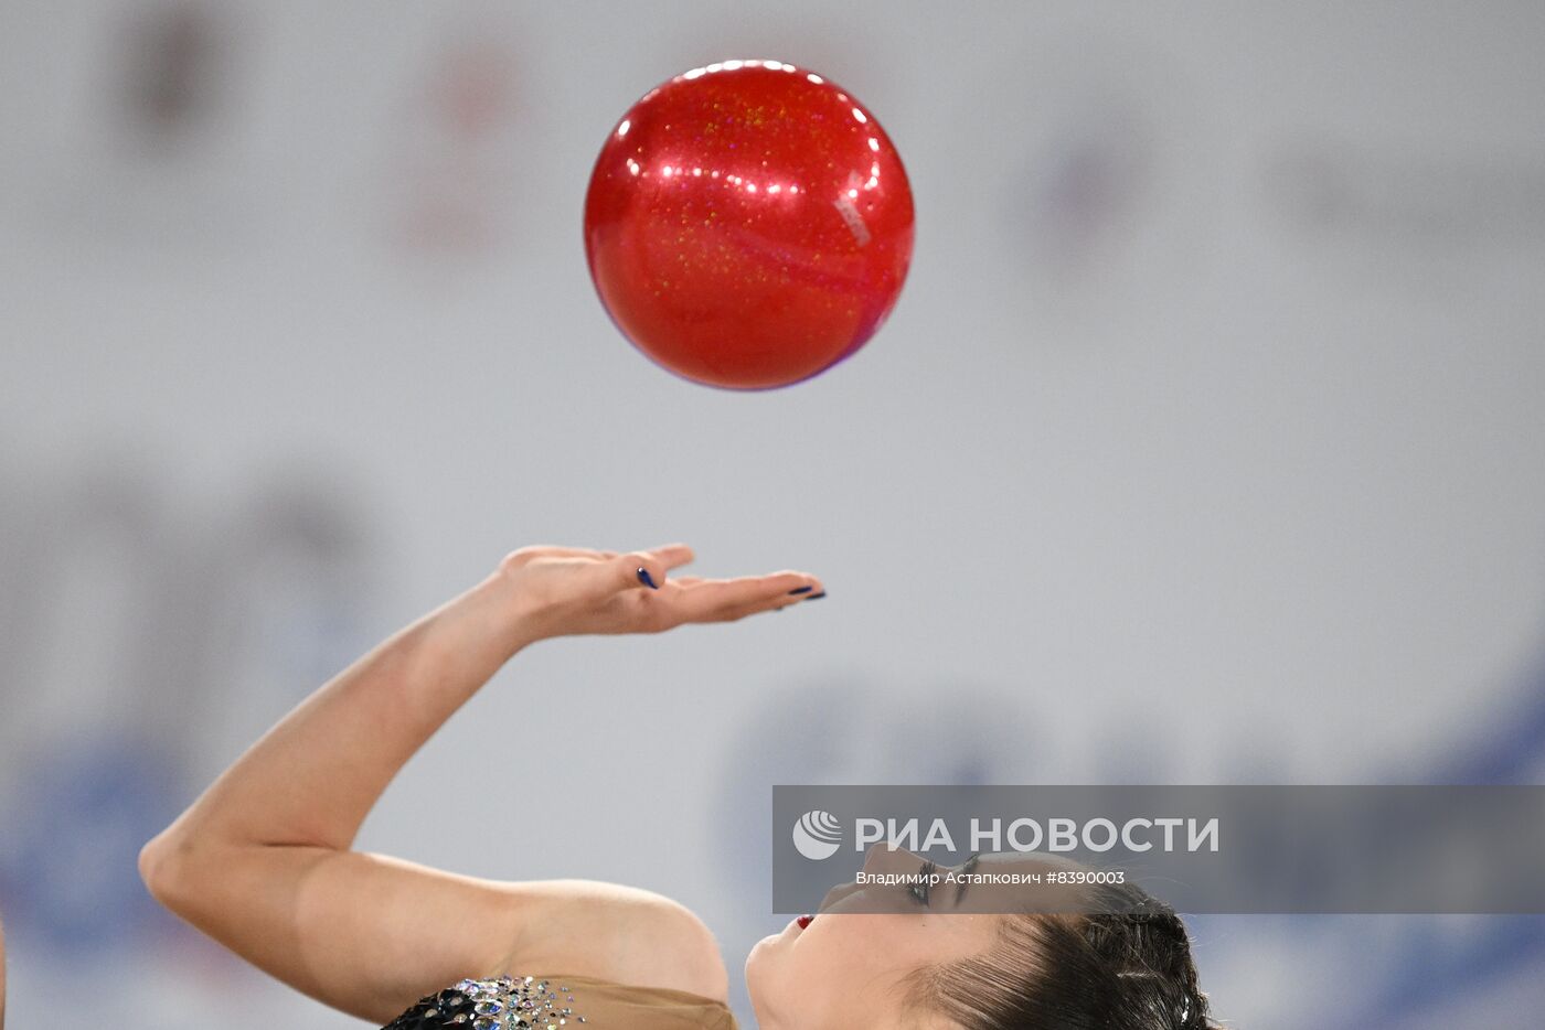
[[593, 976], [726, 1001], [729, 976], [712, 931], [663, 894], [596, 880], [507, 886], [510, 947], [501, 973]]

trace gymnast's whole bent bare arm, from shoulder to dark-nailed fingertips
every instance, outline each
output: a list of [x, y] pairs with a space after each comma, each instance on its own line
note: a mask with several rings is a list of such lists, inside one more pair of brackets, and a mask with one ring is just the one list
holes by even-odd
[[[664, 897], [581, 880], [480, 880], [352, 851], [397, 771], [524, 647], [734, 621], [796, 604], [791, 590], [820, 590], [793, 571], [667, 579], [691, 559], [684, 545], [510, 554], [312, 693], [145, 845], [150, 893], [267, 973], [375, 1022], [507, 956], [513, 973], [723, 999], [712, 936]], [[638, 568], [658, 590], [640, 584]]]

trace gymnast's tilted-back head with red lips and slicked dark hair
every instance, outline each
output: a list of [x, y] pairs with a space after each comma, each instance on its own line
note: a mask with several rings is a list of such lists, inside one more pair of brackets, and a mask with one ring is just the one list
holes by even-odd
[[[970, 865], [980, 872], [1078, 868], [1046, 856], [983, 856]], [[865, 862], [868, 872], [916, 874], [929, 868], [905, 851], [876, 849]], [[1055, 889], [1065, 894], [1051, 905], [1046, 894], [1037, 894], [1040, 911], [1014, 911], [1012, 903], [1004, 903], [1004, 889], [963, 891], [953, 883], [925, 882], [836, 888], [813, 920], [789, 923], [783, 933], [757, 944], [746, 959], [746, 985], [759, 1025], [763, 1030], [1207, 1030], [1216, 1025], [1197, 987], [1185, 925], [1168, 905], [1132, 885], [1100, 883], [1060, 886]], [[1014, 889], [1024, 897], [1023, 888]]]

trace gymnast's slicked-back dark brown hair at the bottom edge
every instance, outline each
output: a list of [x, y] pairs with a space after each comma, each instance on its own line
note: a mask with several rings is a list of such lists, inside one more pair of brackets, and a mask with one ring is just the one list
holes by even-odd
[[1089, 902], [1094, 914], [1006, 916], [983, 954], [915, 973], [912, 1001], [964, 1030], [1216, 1027], [1173, 908], [1129, 885]]

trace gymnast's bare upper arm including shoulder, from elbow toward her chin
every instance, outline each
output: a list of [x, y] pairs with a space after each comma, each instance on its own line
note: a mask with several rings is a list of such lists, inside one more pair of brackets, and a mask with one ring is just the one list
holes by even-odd
[[156, 897], [199, 930], [312, 998], [379, 1024], [462, 977], [505, 971], [726, 994], [708, 930], [646, 891], [482, 880], [311, 846], [229, 848], [196, 862], [159, 856], [145, 865]]

